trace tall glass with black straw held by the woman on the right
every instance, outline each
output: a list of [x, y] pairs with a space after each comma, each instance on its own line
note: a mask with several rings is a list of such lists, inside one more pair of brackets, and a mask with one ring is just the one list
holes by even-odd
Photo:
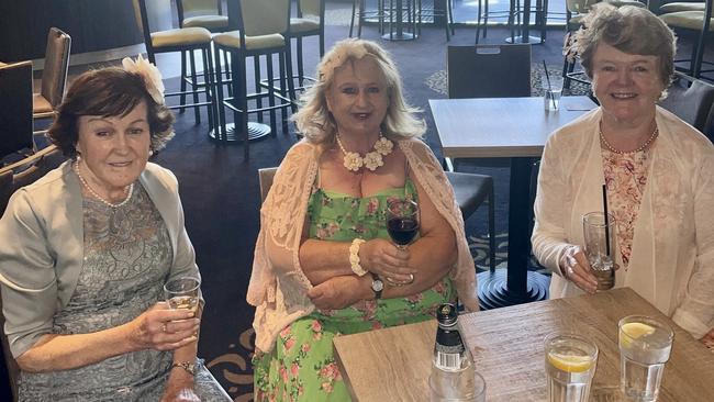
[[582, 216], [582, 232], [590, 271], [598, 278], [598, 290], [612, 289], [615, 286], [615, 217], [607, 214], [605, 224], [603, 212], [587, 213]]

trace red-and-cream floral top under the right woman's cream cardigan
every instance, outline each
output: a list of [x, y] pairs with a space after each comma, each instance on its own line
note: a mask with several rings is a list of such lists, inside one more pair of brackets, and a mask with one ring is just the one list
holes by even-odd
[[616, 241], [625, 270], [629, 265], [635, 221], [637, 221], [639, 205], [647, 185], [650, 149], [651, 147], [632, 154], [616, 154], [609, 149], [602, 149], [603, 172], [607, 186], [607, 206], [615, 216]]

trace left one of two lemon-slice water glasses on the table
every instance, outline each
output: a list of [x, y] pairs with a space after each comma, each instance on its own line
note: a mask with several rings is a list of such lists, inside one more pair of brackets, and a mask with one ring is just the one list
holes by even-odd
[[545, 357], [548, 401], [587, 402], [598, 346], [579, 335], [554, 333], [546, 336]]

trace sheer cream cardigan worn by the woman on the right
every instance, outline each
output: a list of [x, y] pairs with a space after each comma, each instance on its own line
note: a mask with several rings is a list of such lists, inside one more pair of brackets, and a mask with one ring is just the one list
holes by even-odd
[[[570, 244], [583, 243], [582, 215], [602, 210], [604, 183], [599, 141], [602, 111], [556, 131], [540, 161], [533, 253], [553, 272], [550, 298], [582, 294], [560, 276]], [[659, 137], [635, 222], [629, 287], [691, 333], [714, 327], [714, 146], [672, 113], [657, 108]], [[616, 263], [622, 257], [615, 252]]]

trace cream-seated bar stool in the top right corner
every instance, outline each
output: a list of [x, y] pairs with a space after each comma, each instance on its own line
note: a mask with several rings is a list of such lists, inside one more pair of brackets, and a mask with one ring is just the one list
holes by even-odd
[[[704, 60], [706, 43], [714, 32], [712, 24], [712, 1], [705, 2], [703, 11], [677, 11], [659, 15], [680, 37], [692, 41], [692, 53], [689, 59], [678, 59], [674, 63], [689, 62], [689, 68], [677, 66], [677, 70], [684, 71], [694, 78], [701, 78], [705, 72], [713, 72], [714, 68], [702, 69], [703, 65], [714, 66], [714, 62]], [[714, 78], [707, 78], [714, 80]]]

